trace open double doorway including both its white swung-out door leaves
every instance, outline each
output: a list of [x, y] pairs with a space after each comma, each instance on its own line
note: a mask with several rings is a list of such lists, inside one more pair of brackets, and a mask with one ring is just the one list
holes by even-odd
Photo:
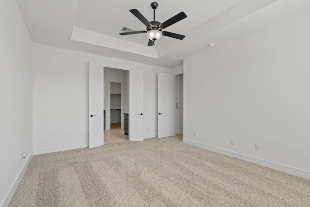
[[143, 141], [143, 70], [122, 70], [103, 65], [89, 64], [89, 148], [107, 143], [110, 137], [106, 134], [111, 131], [110, 82], [122, 83], [122, 136], [125, 140]]

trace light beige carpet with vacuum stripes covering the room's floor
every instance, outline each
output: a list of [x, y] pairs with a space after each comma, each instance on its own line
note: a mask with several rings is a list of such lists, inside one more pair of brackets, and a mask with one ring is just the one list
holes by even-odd
[[33, 156], [10, 207], [309, 207], [310, 180], [152, 138]]

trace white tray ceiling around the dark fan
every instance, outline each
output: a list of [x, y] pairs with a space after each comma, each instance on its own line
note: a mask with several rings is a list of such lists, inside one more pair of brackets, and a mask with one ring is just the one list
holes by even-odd
[[184, 59], [310, 11], [310, 0], [156, 0], [156, 21], [186, 13], [164, 30], [186, 37], [163, 36], [147, 47], [145, 33], [119, 33], [146, 30], [129, 9], [153, 21], [152, 0], [16, 1], [33, 42], [168, 68], [182, 64], [163, 61], [170, 56]]

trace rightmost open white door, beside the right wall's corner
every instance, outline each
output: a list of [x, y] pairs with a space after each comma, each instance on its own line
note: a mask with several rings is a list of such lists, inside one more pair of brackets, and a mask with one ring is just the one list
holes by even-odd
[[158, 73], [158, 138], [175, 135], [175, 76]]

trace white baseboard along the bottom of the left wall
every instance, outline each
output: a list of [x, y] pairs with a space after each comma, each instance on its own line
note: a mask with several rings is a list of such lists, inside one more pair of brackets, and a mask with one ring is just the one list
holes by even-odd
[[0, 204], [0, 207], [7, 207], [21, 181], [21, 178], [23, 178], [26, 170], [27, 170], [27, 167], [31, 161], [33, 157], [33, 151], [31, 151], [30, 153], [30, 156], [27, 158], [27, 161], [25, 162], [24, 166], [22, 167], [22, 169], [19, 171], [17, 177], [15, 178], [14, 180], [14, 183], [12, 184], [10, 190], [8, 191], [8, 193], [6, 194], [6, 196], [4, 197], [3, 199], [3, 202]]

